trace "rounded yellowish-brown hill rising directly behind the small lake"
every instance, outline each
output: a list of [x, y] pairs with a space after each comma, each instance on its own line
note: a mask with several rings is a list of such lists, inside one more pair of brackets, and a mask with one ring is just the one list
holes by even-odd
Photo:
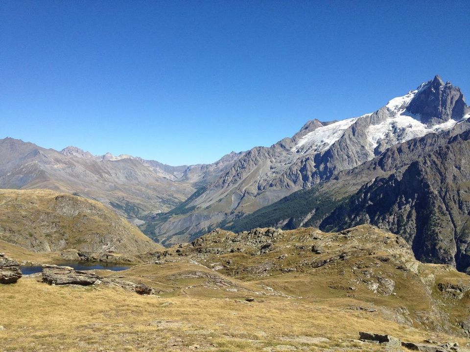
[[50, 190], [0, 190], [0, 240], [34, 252], [126, 255], [161, 248], [101, 203]]

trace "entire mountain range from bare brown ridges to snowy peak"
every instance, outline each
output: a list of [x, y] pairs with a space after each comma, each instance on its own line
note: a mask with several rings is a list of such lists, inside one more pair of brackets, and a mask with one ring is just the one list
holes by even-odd
[[216, 227], [341, 230], [372, 223], [424, 262], [470, 266], [470, 108], [439, 76], [359, 117], [308, 121], [271, 147], [168, 166], [6, 138], [0, 187], [99, 200], [164, 245]]

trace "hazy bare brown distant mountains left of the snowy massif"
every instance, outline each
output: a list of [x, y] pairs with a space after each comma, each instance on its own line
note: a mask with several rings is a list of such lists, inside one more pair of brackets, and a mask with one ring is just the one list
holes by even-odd
[[4, 138], [0, 140], [0, 188], [79, 194], [139, 224], [149, 214], [169, 211], [186, 200], [197, 182], [222, 172], [237, 155], [210, 165], [173, 167], [129, 155], [95, 156], [76, 147], [58, 152]]

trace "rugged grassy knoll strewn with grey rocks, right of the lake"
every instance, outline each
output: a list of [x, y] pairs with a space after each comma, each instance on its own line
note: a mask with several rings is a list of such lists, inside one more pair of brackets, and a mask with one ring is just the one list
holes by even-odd
[[[379, 315], [416, 328], [463, 333], [457, 321], [468, 318], [467, 275], [446, 265], [421, 264], [403, 239], [370, 225], [334, 233], [315, 228], [214, 230], [168, 252], [271, 287], [274, 294], [368, 302]], [[462, 294], [447, 291], [454, 284]]]

